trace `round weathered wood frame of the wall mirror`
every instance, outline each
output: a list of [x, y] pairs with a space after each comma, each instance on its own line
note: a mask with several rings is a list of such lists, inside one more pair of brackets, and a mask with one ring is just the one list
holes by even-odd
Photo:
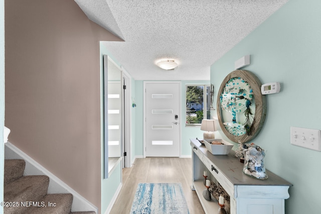
[[[243, 80], [245, 80], [253, 90], [253, 95], [255, 99], [255, 114], [254, 114], [254, 119], [252, 123], [253, 133], [251, 135], [247, 133], [240, 136], [233, 135], [225, 128], [224, 121], [222, 121], [222, 109], [221, 109], [220, 97], [222, 95], [222, 92], [224, 90], [226, 83], [232, 78], [237, 78], [237, 77], [240, 77]], [[261, 94], [261, 85], [262, 83], [260, 82], [260, 80], [253, 73], [246, 70], [235, 70], [231, 72], [225, 77], [225, 79], [221, 84], [221, 87], [218, 91], [218, 96], [217, 96], [217, 117], [223, 133], [233, 142], [246, 143], [252, 140], [257, 136], [257, 134], [260, 132], [264, 124], [264, 120], [266, 116], [266, 98], [264, 95]]]

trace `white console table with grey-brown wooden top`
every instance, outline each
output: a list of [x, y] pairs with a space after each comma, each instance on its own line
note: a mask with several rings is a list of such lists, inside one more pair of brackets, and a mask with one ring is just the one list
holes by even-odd
[[[191, 139], [193, 177], [192, 189], [196, 190], [205, 213], [217, 213], [216, 199], [203, 197], [203, 172], [208, 179], [216, 179], [230, 196], [230, 214], [284, 214], [284, 199], [289, 198], [291, 183], [266, 170], [268, 178], [255, 179], [242, 172], [243, 163], [233, 155], [213, 155], [198, 140]], [[212, 177], [211, 177], [212, 175]]]

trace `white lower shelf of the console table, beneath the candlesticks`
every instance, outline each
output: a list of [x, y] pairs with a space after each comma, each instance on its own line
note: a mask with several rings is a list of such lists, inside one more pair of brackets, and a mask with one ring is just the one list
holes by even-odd
[[200, 202], [203, 206], [205, 213], [215, 213], [215, 211], [213, 212], [213, 210], [217, 211], [220, 208], [220, 206], [218, 204], [217, 199], [215, 199], [213, 195], [211, 200], [206, 200], [203, 197], [203, 191], [204, 189], [206, 189], [206, 187], [204, 186], [204, 180], [195, 180], [193, 182], [193, 185], [197, 195], [199, 196]]

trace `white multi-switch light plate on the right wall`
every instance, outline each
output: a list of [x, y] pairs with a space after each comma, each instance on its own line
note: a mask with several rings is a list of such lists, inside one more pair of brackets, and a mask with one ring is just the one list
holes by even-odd
[[291, 127], [291, 144], [304, 148], [321, 151], [321, 131]]

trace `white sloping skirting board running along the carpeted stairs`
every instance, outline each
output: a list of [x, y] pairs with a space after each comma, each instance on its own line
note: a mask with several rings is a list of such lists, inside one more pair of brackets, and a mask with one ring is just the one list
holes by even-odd
[[73, 195], [72, 211], [96, 211], [98, 213], [95, 205], [10, 142], [5, 144], [5, 159], [24, 159], [26, 161], [24, 175], [47, 175], [50, 178], [49, 194], [71, 193]]

